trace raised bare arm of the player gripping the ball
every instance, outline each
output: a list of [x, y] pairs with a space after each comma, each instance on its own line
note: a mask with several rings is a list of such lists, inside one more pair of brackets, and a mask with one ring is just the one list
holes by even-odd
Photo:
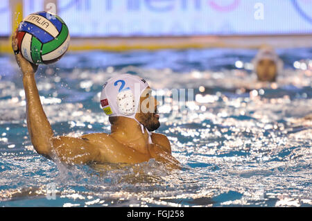
[[[17, 32], [12, 35], [13, 51], [18, 50], [16, 37]], [[54, 137], [53, 130], [40, 102], [35, 82], [37, 65], [28, 62], [21, 53], [15, 55], [15, 58], [23, 73], [28, 133], [37, 153], [49, 158], [56, 154], [61, 161], [67, 163], [96, 161], [98, 150], [92, 148], [92, 145], [89, 145], [85, 139], [66, 136]]]

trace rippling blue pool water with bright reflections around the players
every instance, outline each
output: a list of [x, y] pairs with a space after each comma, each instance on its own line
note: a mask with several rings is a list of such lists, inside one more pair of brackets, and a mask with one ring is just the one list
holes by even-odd
[[[255, 50], [87, 51], [40, 66], [37, 87], [55, 135], [110, 132], [105, 80], [133, 73], [162, 94], [161, 126], [182, 170], [65, 166], [35, 152], [21, 75], [0, 55], [0, 206], [312, 206], [312, 48], [278, 49], [284, 71], [259, 83]], [[193, 89], [187, 109], [172, 89]], [[159, 94], [158, 94], [159, 93]], [[310, 115], [309, 115], [310, 114]]]

